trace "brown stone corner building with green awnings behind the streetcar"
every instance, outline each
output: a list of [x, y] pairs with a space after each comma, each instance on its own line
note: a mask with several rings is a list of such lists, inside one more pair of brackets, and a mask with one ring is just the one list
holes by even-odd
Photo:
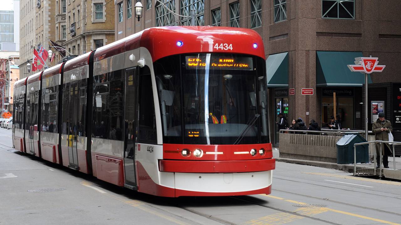
[[[188, 25], [188, 18], [173, 15], [154, 1], [142, 1], [139, 22], [135, 18], [135, 0], [115, 1], [117, 40], [153, 26]], [[275, 121], [280, 112], [289, 123], [302, 118], [309, 124], [314, 119], [324, 127], [335, 108], [343, 128], [363, 129], [364, 76], [346, 67], [354, 63], [355, 57], [378, 57], [379, 64], [386, 65], [380, 74], [369, 76], [370, 82], [401, 82], [401, 69], [395, 60], [401, 56], [401, 5], [397, 0], [162, 2], [180, 15], [188, 15], [189, 8], [195, 9], [197, 25], [251, 28], [262, 36], [271, 142], [277, 146]], [[302, 94], [303, 88], [313, 89], [313, 94]], [[335, 107], [333, 92], [337, 93]]]

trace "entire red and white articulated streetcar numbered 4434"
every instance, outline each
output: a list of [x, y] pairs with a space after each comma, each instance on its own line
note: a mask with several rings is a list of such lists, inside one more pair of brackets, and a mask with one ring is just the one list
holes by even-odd
[[253, 30], [149, 28], [14, 87], [19, 151], [151, 195], [271, 193], [265, 54]]

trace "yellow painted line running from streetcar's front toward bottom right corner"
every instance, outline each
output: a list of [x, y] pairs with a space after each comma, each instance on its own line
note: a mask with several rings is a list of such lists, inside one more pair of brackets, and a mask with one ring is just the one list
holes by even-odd
[[[280, 199], [280, 200], [288, 201], [288, 202], [291, 202], [291, 203], [298, 203], [298, 204], [301, 204], [301, 205], [306, 205], [306, 203], [302, 203], [302, 202], [299, 202], [299, 201], [293, 201], [293, 200], [290, 200], [290, 199], [284, 199], [284, 198], [273, 196], [273, 195], [265, 195], [265, 194], [261, 194], [261, 195], [269, 197], [269, 198], [273, 198], [273, 199]], [[355, 214], [355, 213], [348, 213], [348, 212], [345, 212], [345, 211], [340, 211], [340, 210], [336, 210], [336, 209], [330, 209], [330, 208], [326, 208], [326, 207], [324, 207], [324, 208], [301, 208], [301, 210], [296, 210], [294, 212], [297, 212], [297, 213], [299, 213], [300, 211], [301, 212], [308, 212], [308, 213], [300, 213], [300, 214], [301, 215], [312, 216], [312, 215], [316, 215], [314, 213], [315, 210], [316, 210], [316, 214], [330, 211], [330, 212], [341, 213], [341, 214], [349, 215], [349, 216], [353, 216], [353, 217], [358, 217], [358, 218], [361, 218], [361, 219], [368, 219], [368, 220], [376, 221], [376, 222], [379, 222], [379, 223], [385, 223], [385, 224], [391, 224], [391, 225], [401, 225], [400, 223], [393, 223], [393, 222], [390, 222], [390, 221], [385, 221], [385, 220], [381, 220], [381, 219], [376, 219], [376, 218], [372, 218], [372, 217], [358, 215], [358, 214]], [[273, 215], [275, 215], [275, 214], [273, 214]], [[261, 217], [261, 218], [263, 218], [263, 217]], [[260, 224], [264, 224], [264, 223], [260, 223]], [[273, 224], [276, 224], [276, 223], [273, 223]], [[277, 223], [277, 224], [282, 224], [282, 223]], [[255, 225], [259, 225], [259, 223], [255, 223]]]

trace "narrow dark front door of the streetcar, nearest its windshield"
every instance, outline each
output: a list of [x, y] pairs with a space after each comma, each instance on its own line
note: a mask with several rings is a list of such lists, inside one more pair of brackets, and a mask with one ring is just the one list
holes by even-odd
[[136, 142], [136, 68], [125, 73], [125, 106], [124, 106], [124, 167], [126, 181], [124, 186], [134, 189], [136, 186], [135, 142]]

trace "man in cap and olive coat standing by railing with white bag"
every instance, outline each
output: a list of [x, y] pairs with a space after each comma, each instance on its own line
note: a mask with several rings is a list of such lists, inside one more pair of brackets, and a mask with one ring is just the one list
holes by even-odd
[[[389, 141], [389, 133], [393, 131], [391, 122], [384, 118], [384, 112], [379, 112], [379, 119], [372, 125], [372, 132], [375, 134], [376, 141]], [[377, 168], [380, 168], [381, 159], [380, 157], [380, 144], [376, 143], [376, 154], [377, 154]], [[383, 166], [389, 168], [389, 155], [391, 154], [390, 145], [383, 144], [382, 155], [383, 155]]]

